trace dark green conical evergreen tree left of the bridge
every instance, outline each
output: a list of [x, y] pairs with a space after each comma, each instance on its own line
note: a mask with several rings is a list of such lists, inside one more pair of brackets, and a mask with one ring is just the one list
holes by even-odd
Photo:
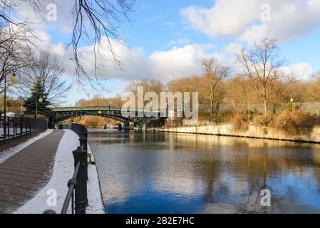
[[38, 100], [38, 115], [48, 116], [50, 114], [48, 105], [51, 103], [48, 101], [48, 95], [44, 93], [40, 78], [36, 78], [33, 88], [31, 88], [31, 95], [24, 101], [24, 107], [26, 107], [24, 114], [36, 115], [36, 100]]

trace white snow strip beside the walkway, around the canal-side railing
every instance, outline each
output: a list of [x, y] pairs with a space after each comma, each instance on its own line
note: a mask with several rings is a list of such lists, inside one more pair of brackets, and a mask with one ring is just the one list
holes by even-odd
[[[65, 134], [58, 145], [56, 161], [53, 165], [53, 173], [48, 184], [43, 187], [35, 197], [26, 202], [24, 206], [20, 207], [14, 213], [41, 214], [46, 211], [46, 209], [52, 209], [56, 213], [61, 212], [64, 199], [68, 192], [67, 183], [74, 172], [72, 151], [76, 150], [79, 145], [79, 138], [76, 133], [73, 133], [72, 130], [64, 131]], [[86, 212], [88, 214], [104, 213], [96, 165], [88, 165], [88, 178], [89, 207], [87, 207]], [[54, 200], [52, 200], [54, 198], [54, 192], [56, 192], [56, 205], [53, 204]], [[71, 213], [71, 204], [69, 204], [68, 213]]]

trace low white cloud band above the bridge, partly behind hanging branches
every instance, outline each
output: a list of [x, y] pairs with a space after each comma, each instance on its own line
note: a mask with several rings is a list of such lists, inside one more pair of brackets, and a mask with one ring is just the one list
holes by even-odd
[[[71, 51], [65, 51], [61, 43], [51, 43], [47, 36], [43, 42], [43, 48], [51, 50], [63, 63], [66, 74], [73, 75], [74, 66]], [[182, 41], [178, 41], [183, 43]], [[150, 56], [143, 55], [142, 48], [127, 48], [123, 44], [111, 41], [113, 51], [123, 63], [124, 71], [114, 67], [113, 56], [108, 49], [108, 40], [103, 37], [102, 44], [105, 48], [97, 51], [97, 63], [103, 66], [100, 75], [105, 79], [120, 79], [123, 81], [139, 80], [145, 77], [156, 78], [162, 82], [184, 76], [192, 76], [201, 73], [200, 60], [205, 57], [216, 56], [224, 61], [226, 50], [215, 53], [212, 45], [192, 44], [181, 48], [171, 48], [168, 51], [155, 51]], [[93, 46], [85, 46], [79, 49], [81, 62], [85, 64], [87, 72], [93, 72], [95, 56]]]

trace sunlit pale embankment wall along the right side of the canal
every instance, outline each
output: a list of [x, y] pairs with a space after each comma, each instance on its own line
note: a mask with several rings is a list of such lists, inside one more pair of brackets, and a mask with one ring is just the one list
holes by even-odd
[[247, 130], [234, 130], [233, 125], [210, 125], [177, 128], [148, 128], [148, 131], [160, 131], [169, 133], [187, 133], [199, 135], [220, 135], [243, 138], [259, 138], [269, 140], [286, 140], [293, 142], [320, 143], [320, 127], [312, 129], [299, 129], [299, 133], [293, 134], [282, 128], [266, 128], [249, 125]]

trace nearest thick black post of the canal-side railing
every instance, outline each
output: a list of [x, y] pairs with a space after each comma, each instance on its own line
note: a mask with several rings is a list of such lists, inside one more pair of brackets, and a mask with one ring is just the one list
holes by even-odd
[[73, 152], [74, 165], [76, 167], [77, 163], [80, 161], [80, 167], [77, 175], [77, 186], [75, 190], [75, 204], [76, 204], [76, 214], [86, 214], [87, 205], [87, 177], [88, 172], [88, 161], [87, 152], [83, 150], [82, 147], [78, 147], [77, 150]]

